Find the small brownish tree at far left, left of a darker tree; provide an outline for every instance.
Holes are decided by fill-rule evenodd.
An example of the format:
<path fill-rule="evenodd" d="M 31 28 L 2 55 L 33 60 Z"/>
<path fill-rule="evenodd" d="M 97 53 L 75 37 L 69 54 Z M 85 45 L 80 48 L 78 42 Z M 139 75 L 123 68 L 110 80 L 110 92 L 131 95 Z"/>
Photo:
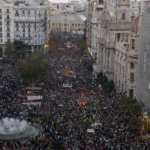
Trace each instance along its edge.
<path fill-rule="evenodd" d="M 6 47 L 5 47 L 5 56 L 12 56 L 13 55 L 13 50 L 14 50 L 14 44 L 8 40 L 6 43 L 5 43 Z"/>

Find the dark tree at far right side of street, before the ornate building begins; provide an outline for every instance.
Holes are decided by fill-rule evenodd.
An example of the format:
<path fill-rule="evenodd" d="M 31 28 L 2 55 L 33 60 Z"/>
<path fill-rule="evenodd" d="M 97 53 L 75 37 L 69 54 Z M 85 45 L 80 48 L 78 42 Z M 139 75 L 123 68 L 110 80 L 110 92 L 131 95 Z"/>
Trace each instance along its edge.
<path fill-rule="evenodd" d="M 83 55 L 86 50 L 87 50 L 87 46 L 86 46 L 86 42 L 83 38 L 77 38 L 75 41 L 76 45 L 79 47 L 80 49 L 80 54 Z"/>

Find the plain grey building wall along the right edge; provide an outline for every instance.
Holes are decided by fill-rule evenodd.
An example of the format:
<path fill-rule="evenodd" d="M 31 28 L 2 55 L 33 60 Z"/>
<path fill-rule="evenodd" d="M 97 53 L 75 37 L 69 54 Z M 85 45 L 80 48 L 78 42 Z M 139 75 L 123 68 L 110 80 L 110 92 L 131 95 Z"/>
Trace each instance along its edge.
<path fill-rule="evenodd" d="M 141 42 L 138 54 L 137 98 L 145 105 L 147 111 L 150 111 L 150 1 L 142 1 L 139 25 Z"/>

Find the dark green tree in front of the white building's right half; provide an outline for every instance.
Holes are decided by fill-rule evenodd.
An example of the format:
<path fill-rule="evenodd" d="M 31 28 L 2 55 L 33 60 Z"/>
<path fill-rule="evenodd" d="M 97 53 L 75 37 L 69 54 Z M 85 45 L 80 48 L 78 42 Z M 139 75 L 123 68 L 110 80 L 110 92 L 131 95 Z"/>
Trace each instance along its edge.
<path fill-rule="evenodd" d="M 23 41 L 14 41 L 14 56 L 17 59 L 23 59 L 26 56 L 28 46 Z"/>

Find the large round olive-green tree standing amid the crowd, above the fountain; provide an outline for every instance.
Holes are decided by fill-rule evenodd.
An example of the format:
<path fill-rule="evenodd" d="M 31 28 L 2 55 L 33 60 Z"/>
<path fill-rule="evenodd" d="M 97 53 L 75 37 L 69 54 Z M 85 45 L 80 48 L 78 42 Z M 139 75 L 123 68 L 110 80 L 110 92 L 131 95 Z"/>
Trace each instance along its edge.
<path fill-rule="evenodd" d="M 24 60 L 16 62 L 20 75 L 25 82 L 36 82 L 43 79 L 49 65 L 41 53 L 32 53 Z"/>

